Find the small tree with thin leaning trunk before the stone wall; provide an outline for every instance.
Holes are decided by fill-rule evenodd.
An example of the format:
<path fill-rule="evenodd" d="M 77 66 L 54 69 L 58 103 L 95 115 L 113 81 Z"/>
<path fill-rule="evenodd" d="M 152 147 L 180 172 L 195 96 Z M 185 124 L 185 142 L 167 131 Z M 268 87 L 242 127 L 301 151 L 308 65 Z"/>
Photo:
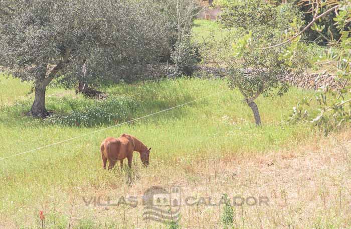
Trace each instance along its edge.
<path fill-rule="evenodd" d="M 251 108 L 256 126 L 261 126 L 261 117 L 255 99 L 264 96 L 282 95 L 288 85 L 279 81 L 279 75 L 287 71 L 284 61 L 279 60 L 278 49 L 262 49 L 264 41 L 254 40 L 252 34 L 244 36 L 233 45 L 234 57 L 230 66 L 230 85 L 238 88 Z"/>

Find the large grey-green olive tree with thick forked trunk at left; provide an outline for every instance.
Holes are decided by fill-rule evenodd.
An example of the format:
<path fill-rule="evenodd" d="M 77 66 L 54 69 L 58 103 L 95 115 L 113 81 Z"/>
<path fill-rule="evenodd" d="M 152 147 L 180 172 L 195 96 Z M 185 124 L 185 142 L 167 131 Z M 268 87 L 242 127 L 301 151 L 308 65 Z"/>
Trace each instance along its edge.
<path fill-rule="evenodd" d="M 0 7 L 0 65 L 35 81 L 35 117 L 49 115 L 45 93 L 54 78 L 121 77 L 170 56 L 177 40 L 173 1 L 3 0 Z"/>

